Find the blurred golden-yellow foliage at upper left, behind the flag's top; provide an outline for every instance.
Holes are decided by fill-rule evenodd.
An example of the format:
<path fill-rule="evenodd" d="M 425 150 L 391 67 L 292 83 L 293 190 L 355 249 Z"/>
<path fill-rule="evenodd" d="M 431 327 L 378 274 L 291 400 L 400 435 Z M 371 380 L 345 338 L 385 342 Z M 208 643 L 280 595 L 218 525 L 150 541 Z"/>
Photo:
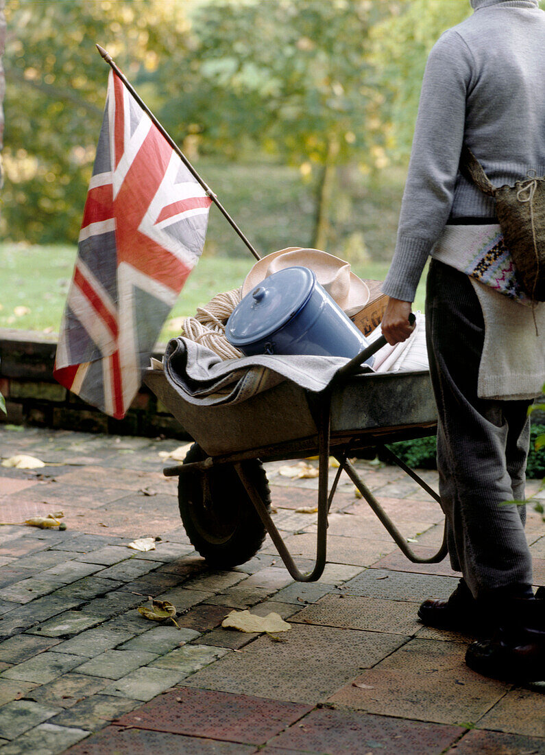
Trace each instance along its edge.
<path fill-rule="evenodd" d="M 2 236 L 29 242 L 78 238 L 108 66 L 129 76 L 157 69 L 189 43 L 183 4 L 168 0 L 11 0 L 6 8 L 6 184 Z"/>

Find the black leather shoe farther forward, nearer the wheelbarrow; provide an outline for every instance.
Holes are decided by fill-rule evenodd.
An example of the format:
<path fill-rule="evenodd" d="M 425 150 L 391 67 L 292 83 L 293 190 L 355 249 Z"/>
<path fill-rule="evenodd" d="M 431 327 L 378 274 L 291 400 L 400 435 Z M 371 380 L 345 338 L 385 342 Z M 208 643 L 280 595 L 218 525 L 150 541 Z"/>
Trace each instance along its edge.
<path fill-rule="evenodd" d="M 469 633 L 478 633 L 482 624 L 479 606 L 463 579 L 448 599 L 424 600 L 418 618 L 427 627 Z"/>

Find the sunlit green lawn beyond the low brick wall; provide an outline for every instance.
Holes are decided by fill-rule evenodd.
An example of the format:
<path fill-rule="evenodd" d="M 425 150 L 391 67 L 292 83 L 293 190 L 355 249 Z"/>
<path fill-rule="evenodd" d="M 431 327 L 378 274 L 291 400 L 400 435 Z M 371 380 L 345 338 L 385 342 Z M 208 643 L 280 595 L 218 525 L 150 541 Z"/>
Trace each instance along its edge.
<path fill-rule="evenodd" d="M 75 255 L 75 246 L 0 244 L 0 328 L 57 333 Z M 253 261 L 250 252 L 245 258 L 207 256 L 205 247 L 203 257 L 189 276 L 161 331 L 159 341 L 167 341 L 179 333 L 179 324 L 173 320 L 194 314 L 197 307 L 206 304 L 214 294 L 241 285 Z M 383 280 L 387 268 L 387 263 L 369 262 L 358 265 L 357 273 L 362 278 Z M 424 279 L 415 301 L 415 309 L 423 308 Z"/>

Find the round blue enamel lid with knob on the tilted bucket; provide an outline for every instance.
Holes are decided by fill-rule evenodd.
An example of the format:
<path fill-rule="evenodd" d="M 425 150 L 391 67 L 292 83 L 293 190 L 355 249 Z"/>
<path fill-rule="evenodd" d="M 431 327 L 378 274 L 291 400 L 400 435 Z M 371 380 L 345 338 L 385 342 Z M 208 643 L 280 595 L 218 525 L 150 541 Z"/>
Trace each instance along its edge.
<path fill-rule="evenodd" d="M 234 308 L 225 325 L 227 340 L 247 346 L 280 330 L 305 306 L 314 285 L 308 267 L 286 267 L 268 276 Z"/>

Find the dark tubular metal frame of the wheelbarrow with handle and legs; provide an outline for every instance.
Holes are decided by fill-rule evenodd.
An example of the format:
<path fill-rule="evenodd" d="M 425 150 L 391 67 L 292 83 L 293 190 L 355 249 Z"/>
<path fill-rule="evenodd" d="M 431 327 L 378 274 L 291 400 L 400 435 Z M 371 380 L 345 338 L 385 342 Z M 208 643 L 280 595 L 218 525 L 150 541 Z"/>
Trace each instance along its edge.
<path fill-rule="evenodd" d="M 235 451 L 234 453 L 224 453 L 207 455 L 203 461 L 196 461 L 191 464 L 177 464 L 173 467 L 166 467 L 164 469 L 165 476 L 183 476 L 191 473 L 206 473 L 213 467 L 220 464 L 232 464 L 237 471 L 237 475 L 240 478 L 246 493 L 252 501 L 256 512 L 259 514 L 260 519 L 265 526 L 266 531 L 271 536 L 271 540 L 274 542 L 275 547 L 280 554 L 281 559 L 286 565 L 286 569 L 293 579 L 300 582 L 316 581 L 323 573 L 323 569 L 326 565 L 326 553 L 327 553 L 327 527 L 328 527 L 328 515 L 331 507 L 335 491 L 338 486 L 341 473 L 344 471 L 348 474 L 348 477 L 354 482 L 354 485 L 361 493 L 362 497 L 367 501 L 371 510 L 378 517 L 384 528 L 393 538 L 393 541 L 397 544 L 404 555 L 413 563 L 437 563 L 445 558 L 447 553 L 446 545 L 446 531 L 443 533 L 442 545 L 439 550 L 430 556 L 429 558 L 421 558 L 417 556 L 414 551 L 409 547 L 406 538 L 403 537 L 397 526 L 392 522 L 390 517 L 384 511 L 379 501 L 375 498 L 363 479 L 357 473 L 354 465 L 348 459 L 348 455 L 361 451 L 366 448 L 381 448 L 381 452 L 387 456 L 390 461 L 397 464 L 406 474 L 408 474 L 418 485 L 423 488 L 428 495 L 434 498 L 439 504 L 441 499 L 439 495 L 415 473 L 410 467 L 403 463 L 390 449 L 385 447 L 386 443 L 395 442 L 402 439 L 413 439 L 418 437 L 424 437 L 434 434 L 436 428 L 436 421 L 429 421 L 424 423 L 418 423 L 413 425 L 403 425 L 400 427 L 375 427 L 373 430 L 363 430 L 362 432 L 351 431 L 348 433 L 332 433 L 331 418 L 332 418 L 332 399 L 335 395 L 335 387 L 346 381 L 348 377 L 354 375 L 357 371 L 360 371 L 361 362 L 365 362 L 369 359 L 369 356 L 381 345 L 384 344 L 383 339 L 379 339 L 372 347 L 369 347 L 363 353 L 355 357 L 344 365 L 341 370 L 335 375 L 332 384 L 327 387 L 326 390 L 321 393 L 310 393 L 305 391 L 305 397 L 308 402 L 308 407 L 311 410 L 311 414 L 314 418 L 314 422 L 317 427 L 317 437 L 310 436 L 303 439 L 289 440 L 286 442 L 278 442 L 271 445 L 264 445 L 260 448 L 251 448 L 248 450 Z M 198 441 L 197 441 L 198 442 Z M 246 471 L 244 470 L 243 462 L 250 459 L 259 459 L 261 461 L 278 461 L 291 458 L 302 458 L 305 456 L 315 455 L 318 453 L 319 467 L 318 467 L 318 504 L 317 504 L 317 550 L 314 567 L 311 572 L 302 573 L 289 553 L 286 544 L 283 541 L 282 535 L 278 532 L 276 525 L 274 524 L 271 514 L 268 512 L 268 508 L 262 499 L 262 495 L 256 488 L 256 485 L 250 479 Z M 329 456 L 332 455 L 338 461 L 338 470 L 335 479 L 332 483 L 331 490 L 329 490 Z"/>

